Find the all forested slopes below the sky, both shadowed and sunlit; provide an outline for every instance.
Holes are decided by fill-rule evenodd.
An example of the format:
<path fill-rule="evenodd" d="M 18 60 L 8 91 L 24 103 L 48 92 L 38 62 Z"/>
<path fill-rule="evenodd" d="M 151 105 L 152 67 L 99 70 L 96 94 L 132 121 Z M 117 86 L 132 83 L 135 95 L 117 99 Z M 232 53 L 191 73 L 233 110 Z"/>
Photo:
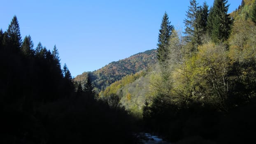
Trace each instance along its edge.
<path fill-rule="evenodd" d="M 184 31 L 165 12 L 157 49 L 72 78 L 50 51 L 21 39 L 14 16 L 0 30 L 4 144 L 140 144 L 140 132 L 175 144 L 254 142 L 256 0 L 189 1 Z"/>

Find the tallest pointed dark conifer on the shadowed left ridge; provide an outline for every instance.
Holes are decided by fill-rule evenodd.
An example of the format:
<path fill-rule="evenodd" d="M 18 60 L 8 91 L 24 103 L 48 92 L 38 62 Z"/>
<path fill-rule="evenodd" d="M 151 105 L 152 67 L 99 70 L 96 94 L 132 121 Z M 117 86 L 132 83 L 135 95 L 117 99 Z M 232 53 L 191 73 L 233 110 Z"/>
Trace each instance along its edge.
<path fill-rule="evenodd" d="M 10 48 L 14 51 L 17 51 L 21 47 L 21 33 L 19 28 L 19 23 L 17 17 L 14 15 L 9 27 L 7 29 L 7 36 L 9 38 Z"/>

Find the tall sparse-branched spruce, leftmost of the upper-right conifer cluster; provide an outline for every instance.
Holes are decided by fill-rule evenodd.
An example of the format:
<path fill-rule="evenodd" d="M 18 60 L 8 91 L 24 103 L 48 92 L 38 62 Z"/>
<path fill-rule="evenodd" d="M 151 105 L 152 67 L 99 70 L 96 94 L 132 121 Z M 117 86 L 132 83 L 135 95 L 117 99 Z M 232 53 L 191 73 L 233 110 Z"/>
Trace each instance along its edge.
<path fill-rule="evenodd" d="M 188 42 L 191 42 L 194 48 L 191 51 L 195 51 L 198 45 L 201 44 L 200 38 L 200 28 L 198 23 L 200 7 L 196 0 L 190 0 L 189 10 L 186 12 L 187 19 L 184 20 L 185 23 L 185 34 Z"/>

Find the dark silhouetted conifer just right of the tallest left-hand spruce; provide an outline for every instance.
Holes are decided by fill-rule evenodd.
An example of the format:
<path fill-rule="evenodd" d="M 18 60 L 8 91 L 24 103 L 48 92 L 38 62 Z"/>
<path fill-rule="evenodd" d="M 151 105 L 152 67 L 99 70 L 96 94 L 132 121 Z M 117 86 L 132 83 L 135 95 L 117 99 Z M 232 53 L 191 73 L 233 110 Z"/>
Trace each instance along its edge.
<path fill-rule="evenodd" d="M 21 45 L 21 51 L 25 56 L 33 56 L 34 55 L 34 43 L 32 42 L 32 39 L 30 35 L 25 36 L 22 45 Z"/>

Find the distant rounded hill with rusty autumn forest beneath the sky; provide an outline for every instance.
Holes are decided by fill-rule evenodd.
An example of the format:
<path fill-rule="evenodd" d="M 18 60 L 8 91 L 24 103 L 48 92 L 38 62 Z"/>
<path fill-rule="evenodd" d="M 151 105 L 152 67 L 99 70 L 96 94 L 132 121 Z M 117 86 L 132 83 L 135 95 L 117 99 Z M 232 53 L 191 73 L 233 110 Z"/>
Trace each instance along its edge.
<path fill-rule="evenodd" d="M 120 80 L 122 77 L 147 69 L 148 66 L 154 65 L 156 62 L 156 49 L 151 49 L 142 53 L 137 53 L 129 58 L 109 63 L 99 70 L 83 72 L 82 74 L 77 75 L 77 77 L 74 78 L 74 81 L 80 81 L 83 84 L 87 79 L 88 73 L 90 73 L 96 91 L 100 92 L 110 84 Z"/>

